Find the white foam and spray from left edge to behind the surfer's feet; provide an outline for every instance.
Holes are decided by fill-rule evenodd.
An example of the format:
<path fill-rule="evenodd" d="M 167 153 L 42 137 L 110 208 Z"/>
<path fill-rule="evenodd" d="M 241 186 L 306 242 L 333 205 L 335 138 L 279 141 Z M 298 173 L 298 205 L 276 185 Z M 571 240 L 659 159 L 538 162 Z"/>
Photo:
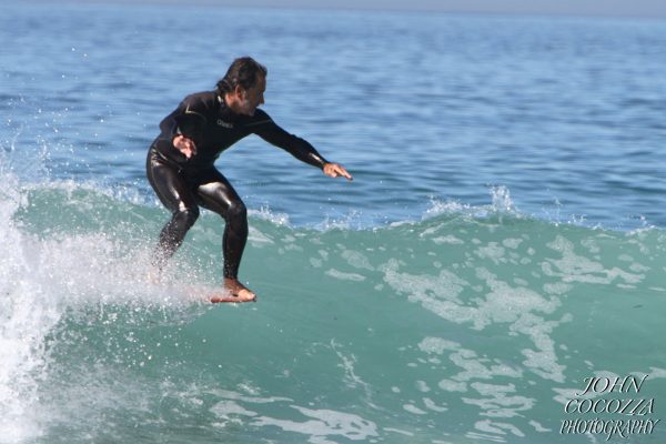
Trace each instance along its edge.
<path fill-rule="evenodd" d="M 26 189 L 0 175 L 0 441 L 39 436 L 40 381 L 49 371 L 47 337 L 65 313 L 87 306 L 188 306 L 196 296 L 148 282 L 148 251 L 131 252 L 103 233 L 40 239 L 17 226 Z M 42 234 L 43 236 L 43 234 Z"/>

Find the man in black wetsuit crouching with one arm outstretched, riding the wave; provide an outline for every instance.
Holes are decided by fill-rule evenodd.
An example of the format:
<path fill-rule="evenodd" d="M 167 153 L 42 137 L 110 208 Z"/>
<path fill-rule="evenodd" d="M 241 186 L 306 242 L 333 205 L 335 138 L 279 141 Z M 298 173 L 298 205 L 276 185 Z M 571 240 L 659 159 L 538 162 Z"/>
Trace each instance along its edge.
<path fill-rule="evenodd" d="M 203 206 L 224 218 L 222 238 L 224 289 L 230 294 L 216 302 L 254 301 L 255 294 L 239 282 L 248 212 L 231 183 L 215 169 L 220 153 L 249 134 L 282 148 L 296 159 L 322 169 L 332 178 L 351 174 L 326 161 L 310 143 L 287 133 L 264 111 L 265 67 L 249 57 L 233 61 L 214 91 L 188 95 L 160 123 L 160 135 L 148 153 L 148 180 L 171 213 L 160 233 L 153 264 L 162 269 L 181 245 Z"/>

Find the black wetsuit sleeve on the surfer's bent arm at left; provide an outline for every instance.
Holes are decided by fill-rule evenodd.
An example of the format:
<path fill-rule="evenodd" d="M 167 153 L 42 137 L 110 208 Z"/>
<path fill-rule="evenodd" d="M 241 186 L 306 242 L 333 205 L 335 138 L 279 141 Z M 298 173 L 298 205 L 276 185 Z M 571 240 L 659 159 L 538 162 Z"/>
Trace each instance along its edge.
<path fill-rule="evenodd" d="M 202 129 L 209 119 L 208 114 L 209 107 L 205 101 L 198 95 L 189 95 L 160 122 L 162 137 L 173 140 L 182 134 L 199 143 Z"/>

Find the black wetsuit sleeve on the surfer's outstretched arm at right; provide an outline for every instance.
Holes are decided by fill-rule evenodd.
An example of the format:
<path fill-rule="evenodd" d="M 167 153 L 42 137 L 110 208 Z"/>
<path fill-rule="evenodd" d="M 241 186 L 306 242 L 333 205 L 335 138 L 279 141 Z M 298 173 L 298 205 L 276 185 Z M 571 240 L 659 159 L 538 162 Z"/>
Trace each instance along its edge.
<path fill-rule="evenodd" d="M 329 163 L 310 142 L 284 131 L 264 111 L 256 110 L 254 118 L 249 129 L 266 142 L 282 148 L 294 158 L 313 167 L 323 169 L 324 164 Z"/>

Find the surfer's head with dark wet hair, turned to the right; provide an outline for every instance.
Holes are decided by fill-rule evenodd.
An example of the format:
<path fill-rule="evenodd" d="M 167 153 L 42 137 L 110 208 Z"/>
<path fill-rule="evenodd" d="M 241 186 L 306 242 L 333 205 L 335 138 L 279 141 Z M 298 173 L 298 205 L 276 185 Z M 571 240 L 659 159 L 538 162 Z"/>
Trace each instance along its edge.
<path fill-rule="evenodd" d="M 235 59 L 218 82 L 218 91 L 226 104 L 239 114 L 253 115 L 264 102 L 269 70 L 251 57 Z"/>

